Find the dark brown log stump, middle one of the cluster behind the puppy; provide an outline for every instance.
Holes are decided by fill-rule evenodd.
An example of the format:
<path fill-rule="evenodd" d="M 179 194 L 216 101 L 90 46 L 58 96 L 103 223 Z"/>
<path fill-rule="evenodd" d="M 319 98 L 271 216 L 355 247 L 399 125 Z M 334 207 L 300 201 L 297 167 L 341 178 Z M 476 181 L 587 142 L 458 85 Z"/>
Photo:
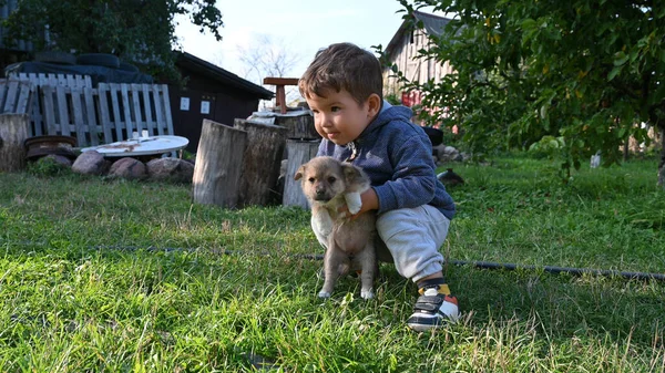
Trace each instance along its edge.
<path fill-rule="evenodd" d="M 247 132 L 238 206 L 266 206 L 277 195 L 279 164 L 286 146 L 286 128 L 235 120 L 234 127 Z"/>

